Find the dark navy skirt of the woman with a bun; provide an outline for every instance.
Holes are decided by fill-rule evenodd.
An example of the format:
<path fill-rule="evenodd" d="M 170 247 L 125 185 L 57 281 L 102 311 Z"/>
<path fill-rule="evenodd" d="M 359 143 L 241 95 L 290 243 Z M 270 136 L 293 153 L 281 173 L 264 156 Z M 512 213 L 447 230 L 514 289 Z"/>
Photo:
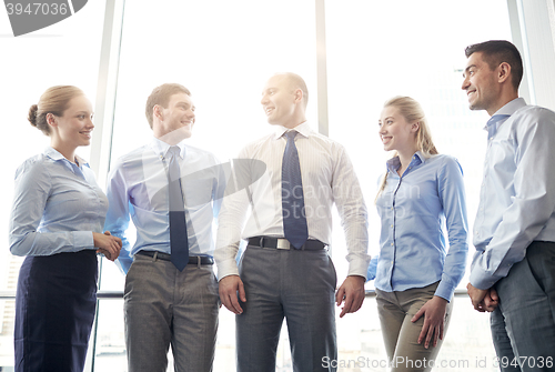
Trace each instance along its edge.
<path fill-rule="evenodd" d="M 16 371 L 83 370 L 97 279 L 93 250 L 24 260 L 16 295 Z"/>

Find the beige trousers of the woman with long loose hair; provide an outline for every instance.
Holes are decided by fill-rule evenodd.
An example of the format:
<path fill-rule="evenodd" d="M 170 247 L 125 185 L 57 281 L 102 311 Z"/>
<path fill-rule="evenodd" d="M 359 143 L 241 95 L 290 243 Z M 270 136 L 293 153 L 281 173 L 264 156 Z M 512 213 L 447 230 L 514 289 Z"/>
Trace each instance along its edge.
<path fill-rule="evenodd" d="M 392 372 L 431 371 L 443 341 L 437 339 L 437 346 L 424 348 L 418 344 L 418 335 L 424 324 L 424 315 L 416 322 L 411 319 L 434 296 L 437 284 L 413 288 L 403 292 L 384 292 L 376 289 L 377 313 L 382 325 L 385 351 Z M 453 299 L 447 304 L 443 338 L 447 333 Z"/>

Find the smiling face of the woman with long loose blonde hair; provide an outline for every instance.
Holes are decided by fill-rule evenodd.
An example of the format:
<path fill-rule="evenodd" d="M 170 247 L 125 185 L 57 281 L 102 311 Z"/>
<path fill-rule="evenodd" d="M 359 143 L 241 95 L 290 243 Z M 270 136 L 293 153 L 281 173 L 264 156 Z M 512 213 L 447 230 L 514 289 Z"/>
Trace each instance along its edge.
<path fill-rule="evenodd" d="M 416 152 L 418 123 L 410 123 L 394 105 L 385 107 L 379 120 L 379 134 L 385 151 L 396 150 L 412 155 Z"/>

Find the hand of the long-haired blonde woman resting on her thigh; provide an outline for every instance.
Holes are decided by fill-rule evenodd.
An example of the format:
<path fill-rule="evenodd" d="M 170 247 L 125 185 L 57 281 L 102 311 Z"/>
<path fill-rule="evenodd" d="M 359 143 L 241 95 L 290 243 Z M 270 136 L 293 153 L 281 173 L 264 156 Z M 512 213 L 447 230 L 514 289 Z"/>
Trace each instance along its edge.
<path fill-rule="evenodd" d="M 443 332 L 445 330 L 445 312 L 447 310 L 447 300 L 434 295 L 432 300 L 424 303 L 416 314 L 411 319 L 411 322 L 417 321 L 424 315 L 424 324 L 418 335 L 418 343 L 424 341 L 424 348 L 430 346 L 430 341 L 433 340 L 434 348 L 437 346 L 437 339 L 443 340 Z"/>

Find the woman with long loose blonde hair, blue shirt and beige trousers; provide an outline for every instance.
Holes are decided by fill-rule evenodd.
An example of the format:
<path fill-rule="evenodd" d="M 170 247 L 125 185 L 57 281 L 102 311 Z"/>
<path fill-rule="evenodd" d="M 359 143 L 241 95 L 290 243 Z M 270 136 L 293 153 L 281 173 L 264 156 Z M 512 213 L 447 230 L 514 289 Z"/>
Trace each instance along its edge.
<path fill-rule="evenodd" d="M 392 371 L 431 371 L 466 265 L 463 172 L 454 158 L 437 153 L 412 98 L 387 101 L 379 124 L 384 150 L 395 151 L 376 197 L 382 230 L 373 270 L 382 333 Z"/>

